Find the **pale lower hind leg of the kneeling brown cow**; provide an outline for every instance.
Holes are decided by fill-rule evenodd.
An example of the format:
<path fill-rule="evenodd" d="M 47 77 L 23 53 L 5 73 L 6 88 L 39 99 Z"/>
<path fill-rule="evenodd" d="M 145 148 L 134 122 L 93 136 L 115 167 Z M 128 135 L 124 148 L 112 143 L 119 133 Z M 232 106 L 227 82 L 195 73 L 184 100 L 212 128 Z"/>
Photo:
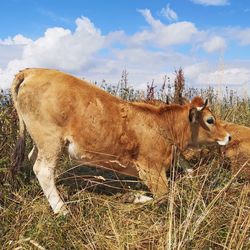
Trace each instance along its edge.
<path fill-rule="evenodd" d="M 56 160 L 57 153 L 47 154 L 38 150 L 38 156 L 33 169 L 54 213 L 66 214 L 66 206 L 55 185 L 54 170 Z"/>

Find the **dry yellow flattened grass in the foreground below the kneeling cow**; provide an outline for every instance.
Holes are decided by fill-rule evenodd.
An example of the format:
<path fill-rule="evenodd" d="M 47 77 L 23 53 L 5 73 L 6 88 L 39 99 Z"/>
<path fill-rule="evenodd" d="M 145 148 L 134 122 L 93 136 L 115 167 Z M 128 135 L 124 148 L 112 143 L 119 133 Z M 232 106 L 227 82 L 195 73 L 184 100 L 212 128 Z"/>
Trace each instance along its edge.
<path fill-rule="evenodd" d="M 249 249 L 250 189 L 213 166 L 170 182 L 166 203 L 133 205 L 119 196 L 75 190 L 70 215 L 52 214 L 34 180 L 5 196 L 4 249 Z M 213 179 L 213 175 L 217 179 Z M 221 178 L 221 179 L 220 179 Z M 62 189 L 62 186 L 60 186 Z M 67 187 L 64 187 L 64 193 Z M 34 244 L 35 243 L 35 244 Z"/>

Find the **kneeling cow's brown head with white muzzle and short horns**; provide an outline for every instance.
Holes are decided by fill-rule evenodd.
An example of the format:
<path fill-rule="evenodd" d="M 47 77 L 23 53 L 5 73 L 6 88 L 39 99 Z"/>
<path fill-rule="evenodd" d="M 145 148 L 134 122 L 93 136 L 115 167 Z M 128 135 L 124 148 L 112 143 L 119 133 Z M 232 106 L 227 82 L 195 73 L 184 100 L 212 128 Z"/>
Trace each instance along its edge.
<path fill-rule="evenodd" d="M 231 136 L 222 123 L 215 118 L 207 104 L 208 101 L 204 102 L 200 97 L 195 97 L 189 104 L 192 143 L 207 144 L 217 142 L 219 145 L 226 145 L 231 140 Z"/>

